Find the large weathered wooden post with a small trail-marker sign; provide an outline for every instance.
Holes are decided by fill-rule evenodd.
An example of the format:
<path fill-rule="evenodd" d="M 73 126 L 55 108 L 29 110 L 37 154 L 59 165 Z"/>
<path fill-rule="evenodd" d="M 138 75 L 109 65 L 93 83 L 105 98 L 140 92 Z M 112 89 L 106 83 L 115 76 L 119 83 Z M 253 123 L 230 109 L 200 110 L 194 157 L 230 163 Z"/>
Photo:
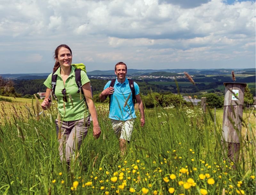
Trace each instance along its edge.
<path fill-rule="evenodd" d="M 242 131 L 242 122 L 240 118 L 243 117 L 244 89 L 246 83 L 223 84 L 225 85 L 225 98 L 221 141 L 224 150 L 223 152 L 228 152 L 228 158 L 237 163 L 239 159 Z M 226 149 L 228 151 L 226 151 Z"/>

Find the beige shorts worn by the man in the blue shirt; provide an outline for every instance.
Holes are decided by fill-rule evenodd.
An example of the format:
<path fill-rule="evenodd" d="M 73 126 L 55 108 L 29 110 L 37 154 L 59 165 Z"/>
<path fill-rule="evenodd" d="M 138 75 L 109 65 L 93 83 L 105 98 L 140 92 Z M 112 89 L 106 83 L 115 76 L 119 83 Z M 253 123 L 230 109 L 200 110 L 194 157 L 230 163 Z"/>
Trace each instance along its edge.
<path fill-rule="evenodd" d="M 133 131 L 134 120 L 135 119 L 122 121 L 111 119 L 112 127 L 118 139 L 130 141 Z"/>

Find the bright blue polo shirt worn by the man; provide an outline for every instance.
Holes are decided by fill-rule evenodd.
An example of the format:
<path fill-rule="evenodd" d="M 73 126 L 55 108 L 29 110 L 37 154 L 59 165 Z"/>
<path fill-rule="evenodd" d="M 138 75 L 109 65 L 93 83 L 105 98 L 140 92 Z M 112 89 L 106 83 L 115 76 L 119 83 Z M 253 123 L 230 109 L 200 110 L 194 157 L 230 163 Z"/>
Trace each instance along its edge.
<path fill-rule="evenodd" d="M 111 81 L 105 85 L 104 90 L 110 86 Z M 139 85 L 134 82 L 135 96 L 140 93 Z M 115 120 L 129 120 L 136 118 L 134 112 L 134 105 L 132 103 L 132 91 L 129 86 L 129 81 L 126 78 L 124 83 L 119 83 L 116 78 L 114 84 L 114 93 L 111 94 L 109 118 Z M 125 101 L 128 96 L 131 96 L 127 101 L 127 105 L 124 107 Z"/>

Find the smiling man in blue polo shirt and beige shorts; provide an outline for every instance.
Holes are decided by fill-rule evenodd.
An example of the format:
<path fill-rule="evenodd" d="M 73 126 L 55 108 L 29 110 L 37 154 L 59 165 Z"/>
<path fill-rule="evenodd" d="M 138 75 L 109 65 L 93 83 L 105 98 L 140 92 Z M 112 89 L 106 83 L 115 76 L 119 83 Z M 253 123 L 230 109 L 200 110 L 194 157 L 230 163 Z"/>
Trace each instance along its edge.
<path fill-rule="evenodd" d="M 100 100 L 104 101 L 108 96 L 109 118 L 113 130 L 119 139 L 122 154 L 126 150 L 126 141 L 129 143 L 136 118 L 134 111 L 135 100 L 139 105 L 141 114 L 140 125 L 145 124 L 144 107 L 140 98 L 140 89 L 137 83 L 127 79 L 127 66 L 124 62 L 118 62 L 115 66 L 116 79 L 108 81 L 104 90 L 100 93 Z"/>

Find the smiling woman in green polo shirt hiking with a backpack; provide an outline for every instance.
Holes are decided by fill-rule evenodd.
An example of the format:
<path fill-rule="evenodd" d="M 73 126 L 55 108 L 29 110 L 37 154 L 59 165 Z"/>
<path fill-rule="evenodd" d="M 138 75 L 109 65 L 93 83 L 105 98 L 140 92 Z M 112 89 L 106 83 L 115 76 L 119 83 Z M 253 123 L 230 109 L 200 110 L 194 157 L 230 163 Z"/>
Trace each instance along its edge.
<path fill-rule="evenodd" d="M 60 45 L 55 49 L 55 65 L 51 73 L 44 81 L 46 94 L 42 109 L 47 110 L 51 106 L 52 74 L 57 75 L 54 95 L 58 101 L 60 119 L 56 119 L 56 132 L 59 139 L 59 153 L 61 161 L 69 165 L 76 150 L 79 150 L 83 138 L 85 138 L 90 126 L 90 113 L 93 122 L 93 136 L 99 138 L 101 130 L 97 119 L 95 105 L 92 100 L 90 80 L 84 71 L 81 71 L 81 85 L 84 98 L 78 93 L 75 68 L 71 66 L 72 51 L 67 45 Z M 88 108 L 87 108 L 88 107 Z M 88 110 L 89 109 L 89 110 Z M 89 112 L 90 111 L 90 112 Z M 59 124 L 60 123 L 60 124 Z"/>

